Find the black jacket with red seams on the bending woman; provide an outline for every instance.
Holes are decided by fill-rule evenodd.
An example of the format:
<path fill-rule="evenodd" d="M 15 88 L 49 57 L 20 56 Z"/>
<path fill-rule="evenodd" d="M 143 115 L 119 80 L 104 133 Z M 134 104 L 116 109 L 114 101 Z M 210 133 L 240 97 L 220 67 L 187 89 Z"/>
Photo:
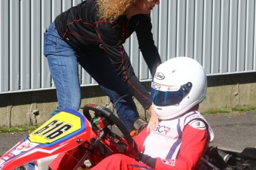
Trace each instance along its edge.
<path fill-rule="evenodd" d="M 143 58 L 154 75 L 161 59 L 154 45 L 150 16 L 138 14 L 130 21 L 125 16 L 120 16 L 117 21 L 105 21 L 97 14 L 96 1 L 86 0 L 57 16 L 55 24 L 59 35 L 77 52 L 105 50 L 114 69 L 144 109 L 151 106 L 150 95 L 134 74 L 122 46 L 135 31 Z"/>

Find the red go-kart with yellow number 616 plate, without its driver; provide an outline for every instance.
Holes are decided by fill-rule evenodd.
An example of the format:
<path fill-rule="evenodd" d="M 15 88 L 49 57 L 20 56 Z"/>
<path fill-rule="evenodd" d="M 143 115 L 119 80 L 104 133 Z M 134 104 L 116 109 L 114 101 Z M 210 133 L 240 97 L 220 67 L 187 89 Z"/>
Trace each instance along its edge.
<path fill-rule="evenodd" d="M 85 167 L 85 160 L 95 166 L 111 154 L 134 157 L 136 143 L 111 110 L 86 104 L 83 114 L 63 109 L 42 126 L 24 137 L 0 157 L 0 169 L 10 170 L 30 161 L 36 169 L 48 169 L 49 163 L 62 152 L 78 148 L 82 157 L 73 169 Z M 256 149 L 232 152 L 209 146 L 198 163 L 199 169 L 256 169 Z M 20 168 L 19 168 L 20 169 Z"/>

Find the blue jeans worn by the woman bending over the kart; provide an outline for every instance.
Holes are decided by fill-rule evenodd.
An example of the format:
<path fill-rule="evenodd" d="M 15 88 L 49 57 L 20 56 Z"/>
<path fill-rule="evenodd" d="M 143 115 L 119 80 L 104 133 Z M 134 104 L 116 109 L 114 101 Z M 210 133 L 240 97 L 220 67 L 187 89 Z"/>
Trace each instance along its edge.
<path fill-rule="evenodd" d="M 50 24 L 47 33 L 45 33 L 44 46 L 44 53 L 58 98 L 58 106 L 50 114 L 50 118 L 56 115 L 60 109 L 79 109 L 81 89 L 78 64 L 80 64 L 99 84 L 112 103 L 116 103 L 119 98 L 126 96 L 116 103 L 116 112 L 128 132 L 134 129 L 134 121 L 139 118 L 139 114 L 131 91 L 116 73 L 103 50 L 99 52 L 76 52 L 59 36 L 54 22 Z"/>

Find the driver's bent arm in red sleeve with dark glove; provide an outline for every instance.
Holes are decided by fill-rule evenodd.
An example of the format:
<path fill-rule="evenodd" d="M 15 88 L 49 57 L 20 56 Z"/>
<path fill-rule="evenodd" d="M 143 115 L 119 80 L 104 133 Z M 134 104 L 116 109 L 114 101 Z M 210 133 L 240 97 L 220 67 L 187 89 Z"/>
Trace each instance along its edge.
<path fill-rule="evenodd" d="M 206 129 L 196 129 L 188 124 L 183 130 L 182 145 L 177 159 L 153 158 L 140 154 L 137 160 L 144 162 L 153 169 L 195 169 L 208 143 Z"/>

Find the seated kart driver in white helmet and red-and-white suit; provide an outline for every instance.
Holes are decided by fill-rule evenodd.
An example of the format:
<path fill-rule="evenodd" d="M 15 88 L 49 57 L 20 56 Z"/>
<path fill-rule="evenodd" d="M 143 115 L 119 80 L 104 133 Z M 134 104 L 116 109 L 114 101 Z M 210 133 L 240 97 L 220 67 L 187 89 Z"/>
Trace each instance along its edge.
<path fill-rule="evenodd" d="M 197 169 L 210 140 L 211 127 L 198 112 L 206 96 L 206 73 L 194 59 L 172 58 L 157 67 L 151 86 L 160 120 L 154 132 L 134 137 L 140 154 L 106 157 L 92 169 Z"/>

